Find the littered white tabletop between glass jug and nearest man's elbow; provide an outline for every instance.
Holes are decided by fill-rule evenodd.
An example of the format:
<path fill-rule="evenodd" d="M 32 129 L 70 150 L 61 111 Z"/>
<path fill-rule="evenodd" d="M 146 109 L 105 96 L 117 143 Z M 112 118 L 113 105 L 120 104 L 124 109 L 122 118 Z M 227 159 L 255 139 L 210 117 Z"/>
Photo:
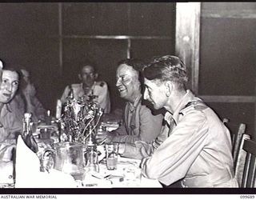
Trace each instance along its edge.
<path fill-rule="evenodd" d="M 78 187 L 96 188 L 126 188 L 126 187 L 154 187 L 162 185 L 155 179 L 149 179 L 142 175 L 139 168 L 140 160 L 118 156 L 117 169 L 107 170 L 106 160 L 99 162 L 99 171 L 86 171 L 85 178 L 78 182 Z"/>

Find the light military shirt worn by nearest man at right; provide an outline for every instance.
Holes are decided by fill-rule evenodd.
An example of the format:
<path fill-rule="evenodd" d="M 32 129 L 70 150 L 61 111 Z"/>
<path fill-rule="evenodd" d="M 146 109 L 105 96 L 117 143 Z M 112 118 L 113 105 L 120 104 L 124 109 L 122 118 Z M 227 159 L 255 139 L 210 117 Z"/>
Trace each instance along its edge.
<path fill-rule="evenodd" d="M 217 114 L 187 91 L 172 114 L 168 138 L 142 160 L 142 174 L 169 186 L 237 187 L 230 132 Z"/>

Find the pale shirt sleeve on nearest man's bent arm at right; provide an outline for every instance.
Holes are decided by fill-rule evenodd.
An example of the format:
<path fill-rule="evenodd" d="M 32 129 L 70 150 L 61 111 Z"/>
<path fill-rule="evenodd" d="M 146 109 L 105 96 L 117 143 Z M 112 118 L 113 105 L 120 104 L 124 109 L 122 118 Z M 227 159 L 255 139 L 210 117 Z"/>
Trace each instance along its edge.
<path fill-rule="evenodd" d="M 207 131 L 202 112 L 186 114 L 154 154 L 142 160 L 142 174 L 166 185 L 183 178 L 205 146 Z"/>

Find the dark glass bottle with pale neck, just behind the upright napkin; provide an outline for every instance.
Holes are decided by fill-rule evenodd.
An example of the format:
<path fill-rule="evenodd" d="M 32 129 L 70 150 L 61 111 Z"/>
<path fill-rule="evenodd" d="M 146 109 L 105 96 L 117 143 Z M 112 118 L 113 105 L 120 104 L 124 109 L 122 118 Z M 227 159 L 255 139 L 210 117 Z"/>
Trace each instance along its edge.
<path fill-rule="evenodd" d="M 26 143 L 26 146 L 29 146 L 34 152 L 38 152 L 38 144 L 34 139 L 32 134 L 32 114 L 25 113 L 23 118 L 23 129 L 22 129 L 22 138 Z"/>

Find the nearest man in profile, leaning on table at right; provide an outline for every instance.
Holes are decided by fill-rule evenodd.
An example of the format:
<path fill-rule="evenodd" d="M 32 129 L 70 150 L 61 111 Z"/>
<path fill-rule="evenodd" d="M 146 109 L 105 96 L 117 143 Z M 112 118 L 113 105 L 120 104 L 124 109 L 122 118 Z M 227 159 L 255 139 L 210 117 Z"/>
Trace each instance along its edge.
<path fill-rule="evenodd" d="M 143 70 L 144 98 L 166 109 L 167 138 L 142 159 L 142 174 L 164 186 L 237 187 L 230 132 L 217 114 L 186 90 L 186 66 L 176 56 L 155 58 Z"/>

